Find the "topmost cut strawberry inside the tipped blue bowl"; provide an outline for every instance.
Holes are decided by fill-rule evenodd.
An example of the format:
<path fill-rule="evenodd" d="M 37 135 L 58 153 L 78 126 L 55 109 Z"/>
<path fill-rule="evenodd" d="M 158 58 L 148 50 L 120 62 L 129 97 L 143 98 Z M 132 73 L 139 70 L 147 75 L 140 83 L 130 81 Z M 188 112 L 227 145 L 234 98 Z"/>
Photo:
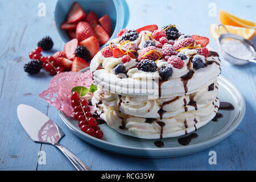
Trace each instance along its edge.
<path fill-rule="evenodd" d="M 85 17 L 86 13 L 84 9 L 82 9 L 78 2 L 75 2 L 68 12 L 67 23 L 79 22 L 80 20 L 85 19 Z"/>

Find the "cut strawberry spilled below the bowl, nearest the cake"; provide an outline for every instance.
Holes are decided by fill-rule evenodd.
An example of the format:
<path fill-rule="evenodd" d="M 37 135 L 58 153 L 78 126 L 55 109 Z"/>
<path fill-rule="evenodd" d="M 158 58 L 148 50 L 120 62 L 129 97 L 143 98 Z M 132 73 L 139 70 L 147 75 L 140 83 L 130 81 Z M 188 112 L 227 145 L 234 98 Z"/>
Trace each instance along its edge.
<path fill-rule="evenodd" d="M 86 49 L 90 52 L 90 59 L 92 59 L 100 50 L 100 45 L 95 36 L 90 36 L 89 38 L 80 42 L 79 45 L 86 47 Z"/>

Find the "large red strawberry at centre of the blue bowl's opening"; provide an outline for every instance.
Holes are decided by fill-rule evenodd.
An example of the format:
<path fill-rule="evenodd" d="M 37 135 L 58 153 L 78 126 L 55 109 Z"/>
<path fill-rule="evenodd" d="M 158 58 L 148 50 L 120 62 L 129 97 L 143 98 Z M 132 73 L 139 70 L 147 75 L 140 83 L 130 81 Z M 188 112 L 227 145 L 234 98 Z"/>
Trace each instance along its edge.
<path fill-rule="evenodd" d="M 88 22 L 79 22 L 76 27 L 76 38 L 81 42 L 90 36 L 96 36 L 96 32 Z"/>

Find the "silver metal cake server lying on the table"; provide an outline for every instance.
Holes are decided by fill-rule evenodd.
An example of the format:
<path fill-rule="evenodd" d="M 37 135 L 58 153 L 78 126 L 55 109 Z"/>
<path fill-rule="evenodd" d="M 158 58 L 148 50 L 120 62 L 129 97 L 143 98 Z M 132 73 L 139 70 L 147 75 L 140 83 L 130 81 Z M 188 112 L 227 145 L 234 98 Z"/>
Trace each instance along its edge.
<path fill-rule="evenodd" d="M 65 134 L 47 115 L 24 104 L 18 106 L 17 114 L 22 127 L 34 142 L 52 144 L 63 152 L 79 171 L 91 170 L 75 154 L 58 143 Z"/>

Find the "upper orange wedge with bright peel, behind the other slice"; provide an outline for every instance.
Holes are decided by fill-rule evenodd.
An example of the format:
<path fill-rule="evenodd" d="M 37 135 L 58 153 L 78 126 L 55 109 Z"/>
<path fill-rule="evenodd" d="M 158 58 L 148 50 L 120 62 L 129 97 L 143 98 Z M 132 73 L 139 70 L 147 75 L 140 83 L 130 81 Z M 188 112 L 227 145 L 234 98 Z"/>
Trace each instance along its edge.
<path fill-rule="evenodd" d="M 236 26 L 236 27 L 245 27 L 245 28 L 256 28 L 254 22 L 249 20 L 238 18 L 226 11 L 220 10 L 220 22 L 221 24 Z"/>

